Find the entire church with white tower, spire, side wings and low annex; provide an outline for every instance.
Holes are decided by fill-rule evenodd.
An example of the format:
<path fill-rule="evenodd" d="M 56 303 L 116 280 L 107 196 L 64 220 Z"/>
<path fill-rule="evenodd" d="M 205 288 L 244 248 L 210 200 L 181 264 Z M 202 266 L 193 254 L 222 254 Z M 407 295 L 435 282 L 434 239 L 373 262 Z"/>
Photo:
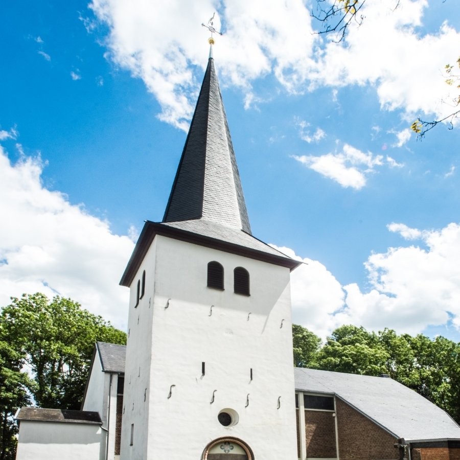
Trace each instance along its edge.
<path fill-rule="evenodd" d="M 387 378 L 293 368 L 290 272 L 252 236 L 211 53 L 162 222 L 120 284 L 81 411 L 20 408 L 17 460 L 459 460 L 460 427 Z"/>

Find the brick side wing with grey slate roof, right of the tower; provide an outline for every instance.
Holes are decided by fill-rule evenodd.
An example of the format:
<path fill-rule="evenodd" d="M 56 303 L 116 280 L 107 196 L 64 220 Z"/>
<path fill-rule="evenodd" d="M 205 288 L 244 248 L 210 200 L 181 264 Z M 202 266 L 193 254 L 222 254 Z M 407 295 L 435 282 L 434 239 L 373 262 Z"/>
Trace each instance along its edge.
<path fill-rule="evenodd" d="M 298 458 L 457 460 L 460 427 L 388 376 L 294 369 Z M 300 436 L 305 433 L 305 438 Z"/>

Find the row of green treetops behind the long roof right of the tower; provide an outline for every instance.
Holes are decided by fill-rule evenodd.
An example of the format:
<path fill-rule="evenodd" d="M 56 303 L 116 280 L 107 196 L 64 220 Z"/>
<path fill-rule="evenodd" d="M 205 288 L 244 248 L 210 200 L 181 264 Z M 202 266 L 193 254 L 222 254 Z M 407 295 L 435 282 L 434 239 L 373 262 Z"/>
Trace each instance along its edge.
<path fill-rule="evenodd" d="M 319 337 L 298 325 L 292 331 L 294 365 L 350 374 L 388 374 L 460 422 L 460 343 L 441 336 L 432 340 L 423 334 L 398 335 L 386 328 L 375 333 L 346 325 L 313 350 L 310 344 L 319 344 Z"/>

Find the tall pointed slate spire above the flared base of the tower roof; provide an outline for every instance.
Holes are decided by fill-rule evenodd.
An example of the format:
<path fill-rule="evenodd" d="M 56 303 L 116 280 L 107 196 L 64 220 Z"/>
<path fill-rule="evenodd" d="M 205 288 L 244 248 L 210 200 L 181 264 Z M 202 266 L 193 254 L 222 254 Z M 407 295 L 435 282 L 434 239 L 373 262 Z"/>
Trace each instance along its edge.
<path fill-rule="evenodd" d="M 196 219 L 251 234 L 212 53 L 163 222 Z"/>

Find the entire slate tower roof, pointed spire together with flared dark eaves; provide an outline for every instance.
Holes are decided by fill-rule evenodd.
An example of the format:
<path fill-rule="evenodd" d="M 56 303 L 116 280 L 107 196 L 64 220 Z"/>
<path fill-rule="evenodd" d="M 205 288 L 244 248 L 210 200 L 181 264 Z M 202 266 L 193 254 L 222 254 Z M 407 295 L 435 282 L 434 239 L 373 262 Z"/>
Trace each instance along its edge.
<path fill-rule="evenodd" d="M 291 270 L 301 264 L 251 234 L 212 56 L 204 74 L 163 221 L 146 221 L 121 285 L 130 286 L 153 238 L 158 234 L 216 247 Z"/>

